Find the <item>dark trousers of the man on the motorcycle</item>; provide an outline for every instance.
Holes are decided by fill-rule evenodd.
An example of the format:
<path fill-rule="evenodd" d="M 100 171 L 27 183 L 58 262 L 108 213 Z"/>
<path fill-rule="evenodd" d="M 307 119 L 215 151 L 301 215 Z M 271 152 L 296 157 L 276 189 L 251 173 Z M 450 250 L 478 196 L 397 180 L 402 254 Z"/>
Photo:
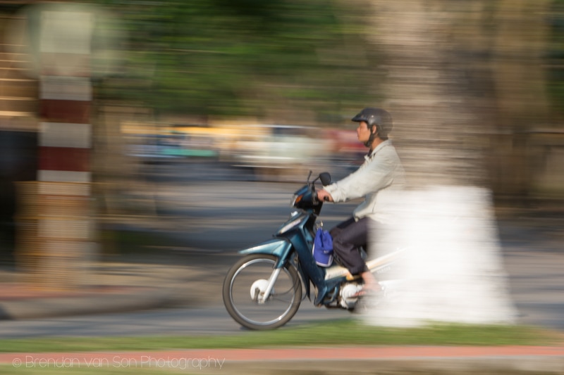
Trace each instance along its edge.
<path fill-rule="evenodd" d="M 351 217 L 329 231 L 333 237 L 333 256 L 351 274 L 360 274 L 368 270 L 366 262 L 360 255 L 359 247 L 364 246 L 366 249 L 371 221 L 372 219 L 368 217 L 358 221 Z"/>

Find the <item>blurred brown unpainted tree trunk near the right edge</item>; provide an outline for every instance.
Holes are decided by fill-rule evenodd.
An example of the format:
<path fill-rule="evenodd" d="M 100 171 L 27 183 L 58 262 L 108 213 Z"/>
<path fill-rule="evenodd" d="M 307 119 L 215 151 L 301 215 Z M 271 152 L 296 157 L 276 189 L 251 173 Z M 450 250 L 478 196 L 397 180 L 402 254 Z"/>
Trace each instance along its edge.
<path fill-rule="evenodd" d="M 489 68 L 495 83 L 489 133 L 496 135 L 490 155 L 498 160 L 489 172 L 498 196 L 513 203 L 515 198 L 527 201 L 537 193 L 540 165 L 535 139 L 551 127 L 546 80 L 550 6 L 551 0 L 498 1 L 496 24 L 488 34 Z"/>

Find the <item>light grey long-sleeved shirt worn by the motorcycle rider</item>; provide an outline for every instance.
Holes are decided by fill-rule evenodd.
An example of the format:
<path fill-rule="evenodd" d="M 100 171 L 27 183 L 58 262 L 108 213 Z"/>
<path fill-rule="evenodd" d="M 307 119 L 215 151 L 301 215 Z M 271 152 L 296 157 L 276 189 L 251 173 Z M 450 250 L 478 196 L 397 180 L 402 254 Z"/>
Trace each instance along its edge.
<path fill-rule="evenodd" d="M 389 206 L 405 187 L 405 171 L 396 148 L 388 139 L 364 158 L 358 170 L 324 189 L 331 193 L 335 203 L 364 196 L 364 201 L 353 211 L 356 220 L 370 217 L 377 222 L 391 222 L 393 212 Z"/>

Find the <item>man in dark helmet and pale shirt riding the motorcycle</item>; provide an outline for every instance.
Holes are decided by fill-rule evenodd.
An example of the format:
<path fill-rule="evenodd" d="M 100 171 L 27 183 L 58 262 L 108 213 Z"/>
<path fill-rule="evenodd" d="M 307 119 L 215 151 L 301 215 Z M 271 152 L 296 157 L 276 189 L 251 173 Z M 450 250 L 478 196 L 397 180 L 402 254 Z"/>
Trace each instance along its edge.
<path fill-rule="evenodd" d="M 360 274 L 362 277 L 364 287 L 359 293 L 362 295 L 379 292 L 381 286 L 369 272 L 359 248 L 367 245 L 372 229 L 391 219 L 391 212 L 386 210 L 388 193 L 403 189 L 405 171 L 396 148 L 388 139 L 393 128 L 390 113 L 381 108 L 364 108 L 352 120 L 358 122 L 358 140 L 369 148 L 369 153 L 355 172 L 325 186 L 318 191 L 317 197 L 322 201 L 341 203 L 364 196 L 364 201 L 353 210 L 353 217 L 330 231 L 336 260 L 351 276 Z"/>

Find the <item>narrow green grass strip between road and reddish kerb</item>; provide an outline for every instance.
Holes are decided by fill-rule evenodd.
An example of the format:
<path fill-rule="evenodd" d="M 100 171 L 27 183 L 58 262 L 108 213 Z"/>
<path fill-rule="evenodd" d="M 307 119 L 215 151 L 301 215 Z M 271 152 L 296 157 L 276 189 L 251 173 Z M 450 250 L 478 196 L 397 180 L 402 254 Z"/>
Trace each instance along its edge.
<path fill-rule="evenodd" d="M 553 345 L 558 333 L 529 326 L 433 324 L 393 329 L 336 320 L 228 336 L 49 337 L 0 340 L 0 352 L 85 352 L 314 345 Z"/>

